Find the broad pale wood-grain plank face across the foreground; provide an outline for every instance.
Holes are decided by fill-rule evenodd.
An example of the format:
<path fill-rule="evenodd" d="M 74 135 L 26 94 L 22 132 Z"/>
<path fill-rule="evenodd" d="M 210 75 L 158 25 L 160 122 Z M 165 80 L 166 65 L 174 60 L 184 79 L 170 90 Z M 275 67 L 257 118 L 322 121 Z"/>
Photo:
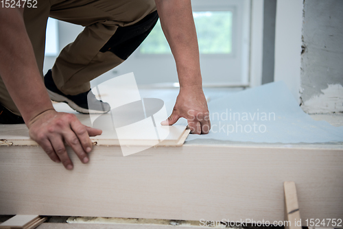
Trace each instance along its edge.
<path fill-rule="evenodd" d="M 272 223 L 292 180 L 303 224 L 343 217 L 342 149 L 187 144 L 123 157 L 96 145 L 88 165 L 68 151 L 73 171 L 40 147 L 1 146 L 0 214 Z"/>

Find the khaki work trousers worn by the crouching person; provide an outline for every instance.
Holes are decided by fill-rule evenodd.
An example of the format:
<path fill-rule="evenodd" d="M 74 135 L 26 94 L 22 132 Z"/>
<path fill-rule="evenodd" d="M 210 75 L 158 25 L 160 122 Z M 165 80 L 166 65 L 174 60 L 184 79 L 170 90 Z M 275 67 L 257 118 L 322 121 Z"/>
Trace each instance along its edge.
<path fill-rule="evenodd" d="M 42 77 L 48 17 L 84 26 L 75 41 L 62 49 L 52 68 L 58 89 L 78 95 L 90 89 L 91 80 L 130 56 L 154 27 L 145 31 L 158 19 L 147 19 L 153 12 L 156 14 L 154 0 L 38 0 L 37 8 L 25 8 L 24 21 Z M 135 27 L 141 21 L 145 23 Z M 138 32 L 145 35 L 135 38 L 139 29 L 145 29 Z M 0 104 L 20 115 L 1 77 Z"/>

